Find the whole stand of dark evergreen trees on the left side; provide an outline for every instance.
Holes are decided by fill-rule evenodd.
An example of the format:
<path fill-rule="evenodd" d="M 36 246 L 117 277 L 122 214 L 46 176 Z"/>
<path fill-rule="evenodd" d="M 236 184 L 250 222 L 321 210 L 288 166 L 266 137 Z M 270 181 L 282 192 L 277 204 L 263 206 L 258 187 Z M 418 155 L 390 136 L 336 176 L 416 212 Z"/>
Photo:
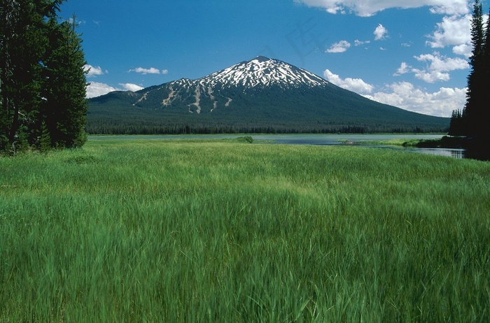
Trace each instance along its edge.
<path fill-rule="evenodd" d="M 86 64 L 64 0 L 1 0 L 0 152 L 80 147 L 86 141 Z"/>

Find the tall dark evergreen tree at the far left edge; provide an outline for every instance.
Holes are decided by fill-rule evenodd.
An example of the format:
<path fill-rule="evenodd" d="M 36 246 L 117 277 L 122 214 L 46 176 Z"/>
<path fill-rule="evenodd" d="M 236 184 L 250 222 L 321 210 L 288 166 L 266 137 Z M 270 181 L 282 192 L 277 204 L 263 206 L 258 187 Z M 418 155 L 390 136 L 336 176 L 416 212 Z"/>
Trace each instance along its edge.
<path fill-rule="evenodd" d="M 40 105 L 41 1 L 1 1 L 1 149 L 27 145 Z"/>

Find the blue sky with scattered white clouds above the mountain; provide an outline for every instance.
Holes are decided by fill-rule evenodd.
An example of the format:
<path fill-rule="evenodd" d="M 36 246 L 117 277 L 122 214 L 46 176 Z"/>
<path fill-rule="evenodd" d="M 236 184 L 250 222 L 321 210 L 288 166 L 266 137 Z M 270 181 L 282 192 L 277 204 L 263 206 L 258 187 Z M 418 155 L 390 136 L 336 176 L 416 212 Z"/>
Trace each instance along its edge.
<path fill-rule="evenodd" d="M 87 96 L 201 78 L 258 55 L 428 115 L 463 108 L 473 0 L 68 0 Z M 483 1 L 488 13 L 488 1 Z"/>

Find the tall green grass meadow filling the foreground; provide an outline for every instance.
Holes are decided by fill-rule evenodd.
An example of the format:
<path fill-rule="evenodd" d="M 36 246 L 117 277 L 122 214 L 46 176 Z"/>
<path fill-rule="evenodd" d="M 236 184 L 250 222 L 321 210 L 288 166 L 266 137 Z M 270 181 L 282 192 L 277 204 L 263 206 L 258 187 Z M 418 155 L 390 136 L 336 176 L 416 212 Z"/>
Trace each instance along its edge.
<path fill-rule="evenodd" d="M 489 322 L 490 164 L 89 141 L 0 158 L 0 322 Z"/>

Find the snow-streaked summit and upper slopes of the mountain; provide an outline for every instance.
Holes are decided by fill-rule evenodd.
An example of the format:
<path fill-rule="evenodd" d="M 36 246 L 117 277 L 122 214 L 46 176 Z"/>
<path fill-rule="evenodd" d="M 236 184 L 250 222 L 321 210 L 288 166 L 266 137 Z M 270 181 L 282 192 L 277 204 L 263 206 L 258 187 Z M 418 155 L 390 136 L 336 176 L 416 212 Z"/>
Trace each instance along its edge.
<path fill-rule="evenodd" d="M 147 102 L 154 102 L 152 96 L 156 95 L 163 96 L 163 108 L 187 106 L 190 113 L 200 114 L 227 108 L 237 96 L 257 96 L 265 89 L 267 92 L 284 92 L 329 85 L 330 82 L 314 73 L 278 59 L 259 56 L 197 80 L 183 78 L 150 90 L 143 89 L 140 92 L 144 95 L 134 105 L 146 106 Z"/>

